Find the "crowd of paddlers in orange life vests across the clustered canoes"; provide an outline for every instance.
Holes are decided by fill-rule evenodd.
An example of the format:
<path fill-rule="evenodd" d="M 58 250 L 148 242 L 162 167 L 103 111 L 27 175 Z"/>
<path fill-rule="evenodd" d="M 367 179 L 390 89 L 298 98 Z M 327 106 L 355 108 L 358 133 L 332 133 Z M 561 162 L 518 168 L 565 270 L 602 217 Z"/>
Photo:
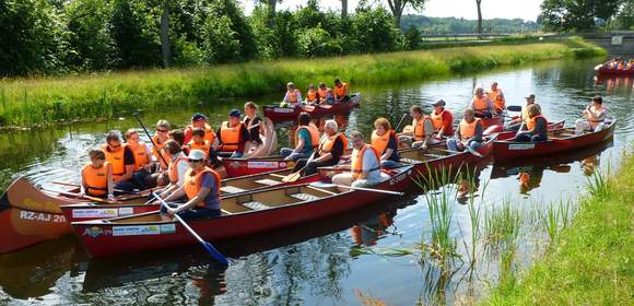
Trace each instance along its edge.
<path fill-rule="evenodd" d="M 289 91 L 292 90 L 290 86 Z M 348 94 L 348 90 L 344 93 Z M 535 99 L 532 94 L 527 96 L 521 115 L 510 122 L 518 130 L 516 141 L 548 139 L 548 120 Z M 505 109 L 504 94 L 495 82 L 488 93 L 481 87 L 476 89 L 471 107 L 465 109 L 456 129 L 454 114 L 445 108 L 446 103 L 438 99 L 432 105 L 434 110 L 430 115 L 424 114 L 422 106 L 411 106 L 412 122 L 401 132 L 396 131 L 398 127 L 392 129 L 388 119 L 376 119 L 369 143 L 364 141 L 360 131 L 352 131 L 348 138 L 336 120 L 326 120 L 318 128 L 315 118 L 301 113 L 296 130 L 290 133 L 294 146 L 282 148 L 280 155 L 295 162 L 293 174 L 307 176 L 316 174 L 319 167 L 334 166 L 343 172 L 332 177 L 333 184 L 367 187 L 384 179 L 381 168 L 398 166 L 399 149 L 426 150 L 428 145 L 446 140 L 451 151 L 478 150 L 484 132 L 480 117 L 498 116 Z M 82 169 L 82 192 L 111 199 L 117 192 L 160 187 L 158 193 L 166 201 L 181 201 L 173 204 L 168 213 L 179 213 L 184 219 L 220 215 L 219 195 L 223 176 L 220 160 L 254 156 L 250 153 L 262 146 L 260 134 L 265 121 L 257 116 L 258 107 L 246 103 L 244 109 L 242 119 L 239 110 L 231 110 L 228 120 L 222 122 L 216 131 L 202 114 L 195 114 L 184 130 L 171 130 L 169 122 L 158 120 L 151 146 L 140 141 L 136 129 L 126 132 L 126 143 L 121 143 L 117 131 L 109 132 L 101 150 L 90 152 L 91 163 Z M 601 97 L 592 98 L 591 105 L 584 110 L 584 117 L 576 122 L 577 133 L 604 127 L 606 108 Z M 349 142 L 352 152 L 348 151 Z M 341 165 L 341 157 L 348 154 L 350 163 Z"/>

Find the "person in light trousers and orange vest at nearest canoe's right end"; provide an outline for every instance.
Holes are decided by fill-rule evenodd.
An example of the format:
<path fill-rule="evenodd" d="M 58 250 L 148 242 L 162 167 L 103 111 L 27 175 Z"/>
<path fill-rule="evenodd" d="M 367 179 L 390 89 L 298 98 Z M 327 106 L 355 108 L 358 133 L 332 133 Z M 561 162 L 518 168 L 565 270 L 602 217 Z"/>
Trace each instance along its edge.
<path fill-rule="evenodd" d="M 376 185 L 381 180 L 379 152 L 363 141 L 363 134 L 360 131 L 350 133 L 350 140 L 353 148 L 350 172 L 334 175 L 332 184 L 352 187 Z M 345 191 L 347 189 L 340 187 L 340 190 Z"/>

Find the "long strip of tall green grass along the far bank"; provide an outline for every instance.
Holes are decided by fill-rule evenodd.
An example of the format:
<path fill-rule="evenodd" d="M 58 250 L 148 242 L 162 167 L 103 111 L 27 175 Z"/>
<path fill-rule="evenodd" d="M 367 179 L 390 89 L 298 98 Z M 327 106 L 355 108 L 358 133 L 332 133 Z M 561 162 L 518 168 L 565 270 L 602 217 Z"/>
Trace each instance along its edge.
<path fill-rule="evenodd" d="M 294 81 L 354 85 L 424 80 L 501 66 L 604 55 L 579 39 L 508 46 L 447 48 L 313 60 L 248 62 L 188 70 L 150 70 L 0 82 L 0 127 L 33 126 L 120 111 L 195 104 L 213 97 L 280 93 Z"/>

